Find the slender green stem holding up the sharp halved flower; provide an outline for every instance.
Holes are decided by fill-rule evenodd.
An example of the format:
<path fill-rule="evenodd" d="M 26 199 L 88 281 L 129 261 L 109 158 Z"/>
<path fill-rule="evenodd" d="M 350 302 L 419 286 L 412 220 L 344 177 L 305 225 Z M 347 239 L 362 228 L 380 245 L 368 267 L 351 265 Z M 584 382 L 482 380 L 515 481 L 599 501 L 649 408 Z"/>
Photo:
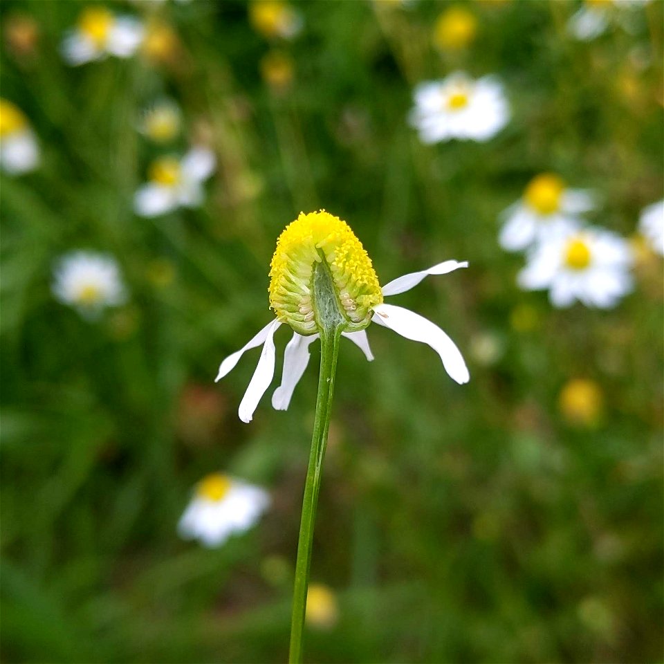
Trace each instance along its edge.
<path fill-rule="evenodd" d="M 302 501 L 302 521 L 299 525 L 297 542 L 297 562 L 295 563 L 295 588 L 293 589 L 293 614 L 291 616 L 291 664 L 302 662 L 302 631 L 306 611 L 306 591 L 309 584 L 309 566 L 311 564 L 311 543 L 313 526 L 316 519 L 318 492 L 322 479 L 323 457 L 330 428 L 332 395 L 339 354 L 342 325 L 326 327 L 320 333 L 320 376 L 318 378 L 318 396 L 316 415 L 311 438 L 311 452 L 304 484 Z"/>

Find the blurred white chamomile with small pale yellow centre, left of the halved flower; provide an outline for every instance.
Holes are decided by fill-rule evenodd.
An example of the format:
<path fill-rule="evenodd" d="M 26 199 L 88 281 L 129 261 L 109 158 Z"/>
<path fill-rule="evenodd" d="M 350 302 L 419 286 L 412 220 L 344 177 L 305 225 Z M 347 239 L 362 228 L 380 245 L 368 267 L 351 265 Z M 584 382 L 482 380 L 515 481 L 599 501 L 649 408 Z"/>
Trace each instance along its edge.
<path fill-rule="evenodd" d="M 53 295 L 85 317 L 127 299 L 116 260 L 87 251 L 71 252 L 60 259 L 54 271 Z"/>

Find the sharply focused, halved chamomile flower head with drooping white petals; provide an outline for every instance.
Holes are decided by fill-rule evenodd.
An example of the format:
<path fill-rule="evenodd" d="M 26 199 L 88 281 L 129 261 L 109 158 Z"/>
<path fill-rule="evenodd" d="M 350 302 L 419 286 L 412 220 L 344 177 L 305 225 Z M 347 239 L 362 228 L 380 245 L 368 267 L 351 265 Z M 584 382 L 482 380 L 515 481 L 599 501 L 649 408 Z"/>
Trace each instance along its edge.
<path fill-rule="evenodd" d="M 279 236 L 272 259 L 269 293 L 275 320 L 221 362 L 216 380 L 228 374 L 245 351 L 263 347 L 239 407 L 240 419 L 250 422 L 274 377 L 275 331 L 288 324 L 293 329 L 293 338 L 286 345 L 282 382 L 272 398 L 275 409 L 286 410 L 308 365 L 309 346 L 319 338 L 322 311 L 327 304 L 335 308 L 333 315 L 338 315 L 342 324 L 342 336 L 356 344 L 367 360 L 373 360 L 374 356 L 365 329 L 374 321 L 407 339 L 428 344 L 439 354 L 443 367 L 454 380 L 460 384 L 468 382 L 470 377 L 463 357 L 443 330 L 413 311 L 383 302 L 383 297 L 409 291 L 427 275 L 445 275 L 465 267 L 468 263 L 445 261 L 428 270 L 398 277 L 380 288 L 369 255 L 345 221 L 324 210 L 301 212 Z M 322 296 L 317 295 L 330 289 L 334 293 L 333 305 L 329 300 L 322 302 Z"/>

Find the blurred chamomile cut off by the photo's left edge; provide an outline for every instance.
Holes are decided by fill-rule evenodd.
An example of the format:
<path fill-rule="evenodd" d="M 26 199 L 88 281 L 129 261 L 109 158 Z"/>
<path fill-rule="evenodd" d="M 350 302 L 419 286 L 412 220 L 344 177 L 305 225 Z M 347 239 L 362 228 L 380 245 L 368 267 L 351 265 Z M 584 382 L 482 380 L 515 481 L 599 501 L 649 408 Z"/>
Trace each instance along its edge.
<path fill-rule="evenodd" d="M 39 165 L 39 145 L 28 118 L 12 102 L 0 99 L 0 167 L 19 175 Z"/>

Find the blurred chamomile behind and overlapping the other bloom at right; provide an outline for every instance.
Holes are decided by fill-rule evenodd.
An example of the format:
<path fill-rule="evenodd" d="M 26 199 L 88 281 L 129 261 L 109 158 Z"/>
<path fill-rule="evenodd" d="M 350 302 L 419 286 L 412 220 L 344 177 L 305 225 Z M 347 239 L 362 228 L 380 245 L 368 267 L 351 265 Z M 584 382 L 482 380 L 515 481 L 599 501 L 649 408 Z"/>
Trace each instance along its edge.
<path fill-rule="evenodd" d="M 522 198 L 502 213 L 498 241 L 508 251 L 525 249 L 555 232 L 560 223 L 594 207 L 592 192 L 569 189 L 559 176 L 542 173 L 528 183 Z"/>

